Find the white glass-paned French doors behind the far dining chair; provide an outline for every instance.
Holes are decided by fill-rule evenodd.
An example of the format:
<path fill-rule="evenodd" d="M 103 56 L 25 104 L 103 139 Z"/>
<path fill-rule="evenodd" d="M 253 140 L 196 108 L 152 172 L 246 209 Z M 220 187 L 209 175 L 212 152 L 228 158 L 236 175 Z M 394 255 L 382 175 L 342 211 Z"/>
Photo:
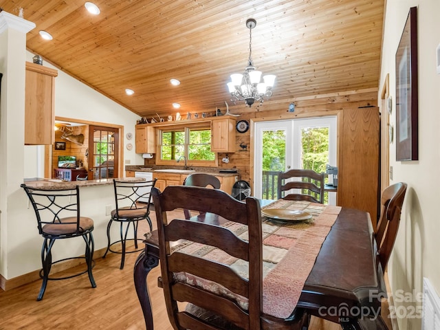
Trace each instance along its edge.
<path fill-rule="evenodd" d="M 336 116 L 256 122 L 254 153 L 254 195 L 277 199 L 278 172 L 291 168 L 325 172 L 337 166 Z M 336 194 L 326 202 L 335 205 Z"/>

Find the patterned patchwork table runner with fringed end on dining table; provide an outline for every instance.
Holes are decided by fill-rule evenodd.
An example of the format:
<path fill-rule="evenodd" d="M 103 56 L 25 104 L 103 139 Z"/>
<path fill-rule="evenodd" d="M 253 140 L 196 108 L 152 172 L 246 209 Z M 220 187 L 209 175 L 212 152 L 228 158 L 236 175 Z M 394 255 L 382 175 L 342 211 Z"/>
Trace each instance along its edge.
<path fill-rule="evenodd" d="M 341 210 L 339 206 L 327 206 L 309 201 L 287 201 L 279 199 L 267 208 L 286 208 L 310 212 L 309 221 L 282 222 L 263 219 L 263 312 L 277 318 L 288 318 L 298 303 L 305 281 L 314 266 L 331 226 Z M 248 226 L 241 223 L 223 224 L 245 241 L 248 240 Z M 172 252 L 197 255 L 212 261 L 230 265 L 241 276 L 248 278 L 248 262 L 236 259 L 210 245 L 185 241 Z M 217 283 L 197 276 L 175 274 L 177 281 L 197 285 L 203 289 L 234 298 L 247 309 L 247 299 L 230 292 Z"/>

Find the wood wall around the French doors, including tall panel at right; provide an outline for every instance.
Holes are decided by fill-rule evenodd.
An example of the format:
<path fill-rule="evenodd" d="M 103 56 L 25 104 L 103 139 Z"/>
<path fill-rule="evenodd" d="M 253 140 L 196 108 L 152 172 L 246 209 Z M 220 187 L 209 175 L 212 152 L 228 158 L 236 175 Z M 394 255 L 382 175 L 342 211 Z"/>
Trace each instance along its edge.
<path fill-rule="evenodd" d="M 290 102 L 296 104 L 293 113 L 288 112 Z M 261 109 L 264 108 L 264 111 Z M 309 118 L 325 115 L 338 117 L 338 193 L 339 206 L 358 208 L 370 212 L 373 225 L 377 217 L 379 180 L 379 110 L 377 89 L 347 91 L 333 95 L 292 98 L 283 102 L 265 102 L 263 107 L 230 107 L 230 112 L 240 114 L 238 120 L 251 122 L 251 129 L 236 133 L 235 153 L 228 153 L 230 162 L 221 159 L 226 153 L 218 153 L 219 168 L 238 168 L 240 179 L 250 182 L 253 191 L 254 137 L 252 122 Z M 248 147 L 246 150 L 240 144 Z M 144 159 L 146 166 L 155 159 Z"/>

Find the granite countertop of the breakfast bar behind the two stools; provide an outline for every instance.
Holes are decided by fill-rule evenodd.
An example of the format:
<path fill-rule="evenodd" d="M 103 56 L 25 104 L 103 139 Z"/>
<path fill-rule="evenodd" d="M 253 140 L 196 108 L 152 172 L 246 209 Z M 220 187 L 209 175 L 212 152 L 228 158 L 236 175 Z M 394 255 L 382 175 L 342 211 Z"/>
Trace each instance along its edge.
<path fill-rule="evenodd" d="M 144 181 L 142 177 L 124 177 L 120 178 L 124 181 Z M 91 187 L 91 186 L 106 186 L 113 185 L 113 178 L 111 179 L 100 179 L 100 180 L 85 180 L 85 181 L 62 181 L 58 179 L 44 179 L 39 177 L 34 177 L 30 179 L 24 179 L 24 184 L 32 188 L 45 188 L 45 189 L 74 189 L 76 186 L 81 187 Z"/>

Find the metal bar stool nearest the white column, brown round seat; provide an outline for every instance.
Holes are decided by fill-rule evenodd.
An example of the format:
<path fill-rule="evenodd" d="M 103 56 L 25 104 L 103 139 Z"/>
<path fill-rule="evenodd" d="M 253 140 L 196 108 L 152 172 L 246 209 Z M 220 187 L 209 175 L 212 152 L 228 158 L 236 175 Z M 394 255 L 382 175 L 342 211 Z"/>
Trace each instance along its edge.
<path fill-rule="evenodd" d="M 32 203 L 39 233 L 44 238 L 41 248 L 43 268 L 40 271 L 43 283 L 36 300 L 43 299 L 49 280 L 64 280 L 87 273 L 89 274 L 91 287 L 96 287 L 94 276 L 91 274 L 94 266 L 94 237 L 91 234 L 94 230 L 94 221 L 88 217 L 80 217 L 80 191 L 78 186 L 74 189 L 47 190 L 21 184 L 21 188 L 25 190 Z M 57 239 L 70 239 L 78 236 L 83 237 L 85 241 L 85 256 L 74 256 L 52 261 L 52 248 Z M 87 270 L 64 277 L 50 276 L 52 265 L 71 259 L 85 259 Z"/>

